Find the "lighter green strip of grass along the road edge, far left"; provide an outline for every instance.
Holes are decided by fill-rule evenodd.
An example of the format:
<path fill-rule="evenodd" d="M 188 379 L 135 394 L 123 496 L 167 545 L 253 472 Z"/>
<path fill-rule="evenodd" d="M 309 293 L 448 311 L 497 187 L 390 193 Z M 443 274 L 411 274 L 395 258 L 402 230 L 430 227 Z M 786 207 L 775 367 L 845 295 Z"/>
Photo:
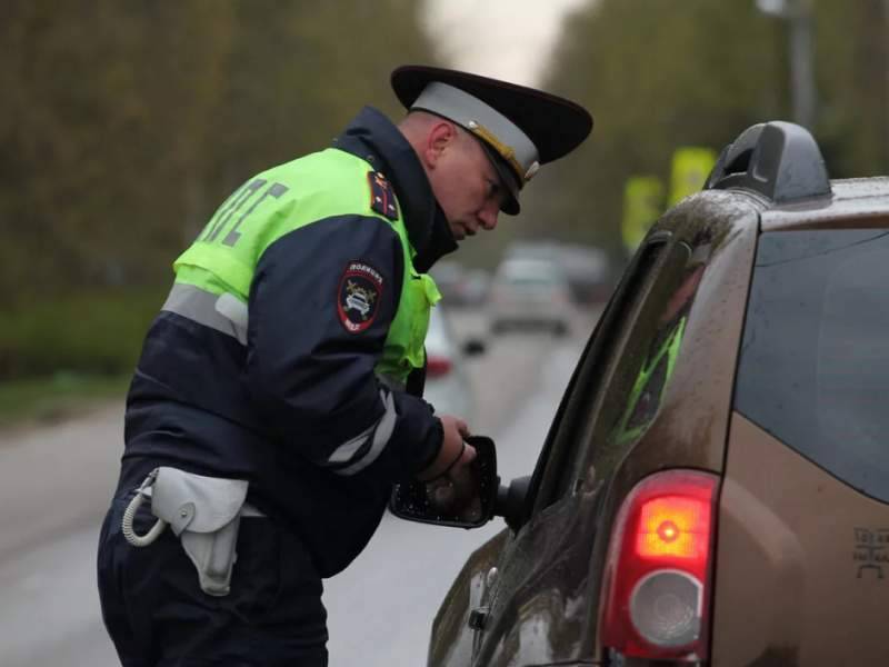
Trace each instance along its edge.
<path fill-rule="evenodd" d="M 0 428 L 54 424 L 80 417 L 110 400 L 123 400 L 129 376 L 60 372 L 51 378 L 0 382 Z"/>

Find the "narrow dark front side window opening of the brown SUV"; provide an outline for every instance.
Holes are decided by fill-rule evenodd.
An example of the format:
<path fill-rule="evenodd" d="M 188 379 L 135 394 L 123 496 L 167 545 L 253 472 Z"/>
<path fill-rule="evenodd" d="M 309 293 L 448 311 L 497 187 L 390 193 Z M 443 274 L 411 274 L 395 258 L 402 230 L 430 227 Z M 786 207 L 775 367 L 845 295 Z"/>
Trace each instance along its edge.
<path fill-rule="evenodd" d="M 531 482 L 533 510 L 539 511 L 570 490 L 570 471 L 582 458 L 580 444 L 589 422 L 591 397 L 599 392 L 605 370 L 621 348 L 639 306 L 655 287 L 668 253 L 666 237 L 653 237 L 636 256 L 602 313 L 562 397 Z"/>

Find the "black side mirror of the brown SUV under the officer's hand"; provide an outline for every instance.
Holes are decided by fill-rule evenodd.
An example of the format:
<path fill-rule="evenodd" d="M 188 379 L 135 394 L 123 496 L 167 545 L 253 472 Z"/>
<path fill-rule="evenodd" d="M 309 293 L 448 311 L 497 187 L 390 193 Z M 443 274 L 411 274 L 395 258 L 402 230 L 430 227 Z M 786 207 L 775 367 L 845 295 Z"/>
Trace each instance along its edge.
<path fill-rule="evenodd" d="M 409 521 L 458 528 L 479 528 L 491 520 L 500 486 L 497 449 L 493 440 L 486 436 L 469 436 L 466 441 L 476 448 L 476 458 L 470 464 L 476 492 L 470 498 L 457 507 L 442 509 L 432 501 L 431 482 L 414 479 L 394 485 L 389 511 Z"/>

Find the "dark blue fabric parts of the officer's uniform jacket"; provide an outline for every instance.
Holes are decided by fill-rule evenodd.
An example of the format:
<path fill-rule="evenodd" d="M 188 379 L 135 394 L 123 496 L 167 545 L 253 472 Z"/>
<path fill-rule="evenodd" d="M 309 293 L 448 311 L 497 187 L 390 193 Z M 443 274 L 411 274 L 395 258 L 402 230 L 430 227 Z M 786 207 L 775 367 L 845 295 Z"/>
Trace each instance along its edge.
<path fill-rule="evenodd" d="M 384 116 L 364 108 L 334 146 L 367 160 L 394 188 L 418 271 L 456 249 L 413 149 Z M 386 221 L 354 218 L 314 222 L 267 249 L 250 290 L 247 346 L 160 312 L 128 396 L 120 482 L 130 490 L 159 465 L 249 479 L 249 500 L 294 531 L 326 577 L 363 549 L 392 482 L 430 462 L 442 437 L 431 407 L 411 395 L 411 378 L 409 391 L 392 392 L 398 420 L 370 466 L 342 476 L 319 465 L 384 411 L 373 364 L 394 317 L 403 252 Z M 346 332 L 337 316 L 341 267 L 354 259 L 392 286 L 360 336 Z"/>

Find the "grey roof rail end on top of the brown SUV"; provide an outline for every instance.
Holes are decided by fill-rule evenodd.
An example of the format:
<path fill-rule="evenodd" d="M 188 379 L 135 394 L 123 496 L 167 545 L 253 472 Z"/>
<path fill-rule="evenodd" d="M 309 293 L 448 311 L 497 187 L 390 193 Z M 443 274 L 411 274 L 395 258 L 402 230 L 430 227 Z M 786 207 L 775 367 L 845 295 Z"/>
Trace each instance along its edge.
<path fill-rule="evenodd" d="M 830 195 L 830 178 L 815 138 L 775 120 L 747 128 L 719 156 L 705 189 L 746 188 L 775 202 Z"/>

